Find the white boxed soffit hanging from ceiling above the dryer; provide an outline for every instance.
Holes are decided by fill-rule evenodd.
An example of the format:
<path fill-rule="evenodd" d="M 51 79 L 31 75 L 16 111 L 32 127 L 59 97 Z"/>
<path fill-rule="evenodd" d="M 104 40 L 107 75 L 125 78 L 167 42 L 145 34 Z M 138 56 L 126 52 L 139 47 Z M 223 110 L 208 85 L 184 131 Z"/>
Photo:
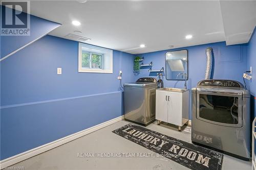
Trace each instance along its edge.
<path fill-rule="evenodd" d="M 256 25 L 256 1 L 220 1 L 227 45 L 247 43 Z"/>

